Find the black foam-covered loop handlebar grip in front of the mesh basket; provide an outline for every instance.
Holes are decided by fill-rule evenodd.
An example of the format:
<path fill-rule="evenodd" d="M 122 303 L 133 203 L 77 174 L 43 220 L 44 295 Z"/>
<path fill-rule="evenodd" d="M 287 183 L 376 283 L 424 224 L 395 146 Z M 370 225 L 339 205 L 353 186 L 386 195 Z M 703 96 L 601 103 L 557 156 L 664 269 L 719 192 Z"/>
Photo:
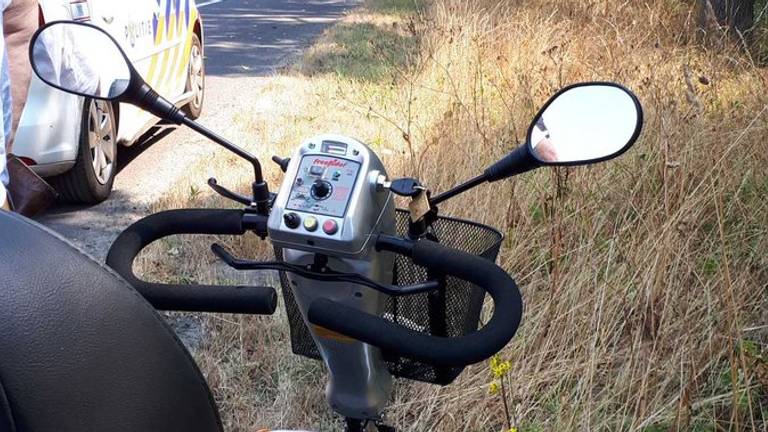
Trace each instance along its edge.
<path fill-rule="evenodd" d="M 378 246 L 404 253 L 402 247 L 392 244 L 379 243 Z M 309 321 L 385 351 L 436 366 L 477 363 L 509 343 L 520 326 L 523 303 L 515 281 L 504 270 L 489 260 L 427 240 L 415 243 L 409 254 L 414 263 L 430 271 L 455 276 L 487 291 L 494 301 L 493 316 L 488 324 L 466 336 L 430 336 L 327 299 L 312 302 Z"/>

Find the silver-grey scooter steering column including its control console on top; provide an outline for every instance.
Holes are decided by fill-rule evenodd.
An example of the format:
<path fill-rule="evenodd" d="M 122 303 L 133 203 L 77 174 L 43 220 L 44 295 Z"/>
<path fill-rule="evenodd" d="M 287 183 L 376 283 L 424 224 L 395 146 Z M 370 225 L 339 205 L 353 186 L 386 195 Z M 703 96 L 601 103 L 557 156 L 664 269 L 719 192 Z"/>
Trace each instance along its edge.
<path fill-rule="evenodd" d="M 308 267 L 324 255 L 330 270 L 391 284 L 394 255 L 373 247 L 379 233 L 395 231 L 394 198 L 378 186 L 379 177 L 385 176 L 379 158 L 354 139 L 322 135 L 302 143 L 269 217 L 269 237 L 282 259 Z M 352 282 L 320 282 L 291 273 L 285 277 L 328 367 L 328 402 L 345 417 L 376 418 L 392 390 L 381 351 L 313 325 L 307 313 L 313 301 L 324 298 L 381 315 L 387 296 Z"/>

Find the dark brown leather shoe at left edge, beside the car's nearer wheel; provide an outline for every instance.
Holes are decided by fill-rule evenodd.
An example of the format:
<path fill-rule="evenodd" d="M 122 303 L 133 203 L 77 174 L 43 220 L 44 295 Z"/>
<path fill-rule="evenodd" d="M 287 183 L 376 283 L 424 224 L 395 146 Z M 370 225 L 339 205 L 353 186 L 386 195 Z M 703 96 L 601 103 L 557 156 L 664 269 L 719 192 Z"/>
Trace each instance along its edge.
<path fill-rule="evenodd" d="M 16 213 L 33 217 L 56 201 L 56 191 L 16 156 L 8 156 L 8 174 L 8 193 Z"/>

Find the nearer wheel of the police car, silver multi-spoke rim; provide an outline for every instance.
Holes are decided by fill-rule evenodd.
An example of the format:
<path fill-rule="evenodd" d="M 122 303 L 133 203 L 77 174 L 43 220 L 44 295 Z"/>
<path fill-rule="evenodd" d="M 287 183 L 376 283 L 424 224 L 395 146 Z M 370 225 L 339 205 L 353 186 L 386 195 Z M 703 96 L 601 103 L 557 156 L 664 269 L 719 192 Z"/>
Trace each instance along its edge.
<path fill-rule="evenodd" d="M 75 166 L 51 179 L 64 201 L 97 204 L 109 197 L 117 173 L 117 116 L 110 102 L 86 99 Z"/>

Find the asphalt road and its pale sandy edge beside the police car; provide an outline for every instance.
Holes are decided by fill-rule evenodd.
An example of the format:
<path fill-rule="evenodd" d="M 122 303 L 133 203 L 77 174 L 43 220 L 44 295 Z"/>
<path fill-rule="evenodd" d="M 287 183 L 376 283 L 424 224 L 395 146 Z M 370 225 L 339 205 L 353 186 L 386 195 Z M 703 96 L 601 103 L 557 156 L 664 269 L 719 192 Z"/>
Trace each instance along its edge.
<path fill-rule="evenodd" d="M 200 121 L 226 136 L 233 113 L 256 101 L 258 87 L 359 0 L 198 1 L 205 31 L 206 93 Z M 248 112 L 248 111 L 246 111 Z M 128 225 L 217 146 L 186 129 L 167 130 L 118 154 L 112 197 L 92 207 L 58 206 L 40 221 L 99 260 Z"/>

